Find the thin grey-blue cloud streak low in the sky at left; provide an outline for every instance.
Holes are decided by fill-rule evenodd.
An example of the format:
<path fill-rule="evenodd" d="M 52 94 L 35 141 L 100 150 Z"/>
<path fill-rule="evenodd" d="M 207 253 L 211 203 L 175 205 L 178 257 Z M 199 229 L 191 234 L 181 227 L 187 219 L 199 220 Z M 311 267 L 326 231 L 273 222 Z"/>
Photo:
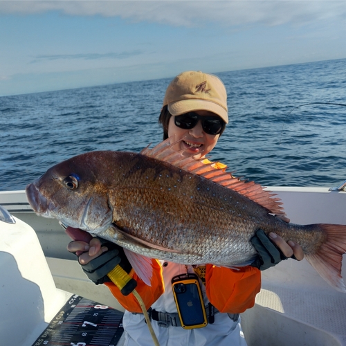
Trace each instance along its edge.
<path fill-rule="evenodd" d="M 121 53 L 80 53 L 80 54 L 55 54 L 55 55 L 36 55 L 35 60 L 31 63 L 41 62 L 42 60 L 70 60 L 70 59 L 82 59 L 82 60 L 99 60 L 99 59 L 127 59 L 127 57 L 133 57 L 140 55 L 142 52 L 138 49 L 131 52 Z"/>

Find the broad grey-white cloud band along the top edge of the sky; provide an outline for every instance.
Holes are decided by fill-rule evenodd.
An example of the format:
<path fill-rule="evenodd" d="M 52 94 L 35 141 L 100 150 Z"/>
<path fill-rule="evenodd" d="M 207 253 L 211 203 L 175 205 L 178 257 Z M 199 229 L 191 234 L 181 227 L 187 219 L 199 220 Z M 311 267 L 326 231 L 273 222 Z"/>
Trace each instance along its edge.
<path fill-rule="evenodd" d="M 0 1 L 0 14 L 32 15 L 59 11 L 64 15 L 122 17 L 172 26 L 244 24 L 302 25 L 325 19 L 345 19 L 345 1 Z"/>

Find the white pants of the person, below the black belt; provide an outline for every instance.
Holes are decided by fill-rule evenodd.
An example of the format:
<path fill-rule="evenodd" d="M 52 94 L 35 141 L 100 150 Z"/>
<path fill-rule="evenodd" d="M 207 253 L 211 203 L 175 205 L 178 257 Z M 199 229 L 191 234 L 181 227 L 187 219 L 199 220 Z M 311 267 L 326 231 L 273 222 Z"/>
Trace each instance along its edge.
<path fill-rule="evenodd" d="M 125 311 L 123 318 L 125 329 L 125 346 L 152 346 L 153 340 L 149 333 L 143 314 Z M 215 322 L 197 329 L 182 327 L 159 327 L 152 320 L 152 327 L 160 346 L 246 346 L 246 341 L 239 320 L 234 322 L 227 313 L 215 314 Z"/>

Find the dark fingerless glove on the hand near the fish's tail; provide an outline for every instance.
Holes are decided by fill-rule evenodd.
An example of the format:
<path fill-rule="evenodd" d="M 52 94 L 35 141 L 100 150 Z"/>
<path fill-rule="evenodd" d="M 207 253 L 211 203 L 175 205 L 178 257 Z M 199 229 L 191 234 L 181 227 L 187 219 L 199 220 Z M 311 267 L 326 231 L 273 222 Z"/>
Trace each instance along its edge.
<path fill-rule="evenodd" d="M 288 258 L 282 253 L 280 248 L 271 242 L 263 230 L 257 230 L 250 242 L 258 253 L 258 257 L 251 266 L 260 269 L 260 271 L 265 271 L 271 268 L 271 266 L 276 266 L 276 264 Z M 294 258 L 294 256 L 292 258 Z"/>

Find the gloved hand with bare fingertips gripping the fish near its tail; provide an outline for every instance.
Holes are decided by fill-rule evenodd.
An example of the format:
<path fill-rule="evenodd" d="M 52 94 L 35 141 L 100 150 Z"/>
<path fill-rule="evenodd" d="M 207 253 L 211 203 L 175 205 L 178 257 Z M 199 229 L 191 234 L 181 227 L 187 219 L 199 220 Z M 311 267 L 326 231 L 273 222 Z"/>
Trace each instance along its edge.
<path fill-rule="evenodd" d="M 263 230 L 257 230 L 255 236 L 251 238 L 251 244 L 258 252 L 258 257 L 251 266 L 255 266 L 261 271 L 275 266 L 289 257 L 298 261 L 304 258 L 302 247 L 299 244 L 295 244 L 291 240 L 285 242 L 276 233 L 269 233 L 267 237 Z"/>

